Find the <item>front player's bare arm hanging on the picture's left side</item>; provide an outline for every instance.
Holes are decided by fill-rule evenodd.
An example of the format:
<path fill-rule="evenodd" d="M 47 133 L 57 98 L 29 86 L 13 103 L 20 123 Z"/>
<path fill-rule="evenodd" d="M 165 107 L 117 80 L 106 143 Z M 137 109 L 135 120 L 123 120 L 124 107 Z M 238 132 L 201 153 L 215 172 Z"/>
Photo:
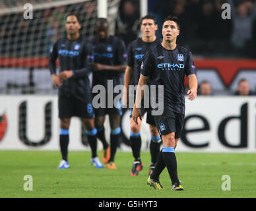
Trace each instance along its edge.
<path fill-rule="evenodd" d="M 132 113 L 133 121 L 135 121 L 137 125 L 138 125 L 138 117 L 141 120 L 143 119 L 139 105 L 141 104 L 141 100 L 143 99 L 143 96 L 144 96 L 143 86 L 146 85 L 147 82 L 148 82 L 148 76 L 141 75 L 139 79 L 139 84 L 136 90 L 136 99 L 135 99 L 135 104 L 133 106 L 133 113 Z"/>

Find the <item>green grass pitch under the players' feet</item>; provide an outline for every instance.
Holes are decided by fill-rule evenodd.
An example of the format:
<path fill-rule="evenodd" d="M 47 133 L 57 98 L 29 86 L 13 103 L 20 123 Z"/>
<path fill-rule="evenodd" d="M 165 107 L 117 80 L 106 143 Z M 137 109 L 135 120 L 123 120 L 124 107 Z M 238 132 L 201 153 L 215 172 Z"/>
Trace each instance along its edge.
<path fill-rule="evenodd" d="M 101 152 L 98 152 L 100 157 Z M 69 152 L 70 169 L 57 169 L 60 152 L 0 151 L 0 197 L 175 198 L 256 197 L 256 154 L 176 152 L 178 175 L 185 191 L 171 191 L 167 169 L 160 176 L 164 190 L 146 185 L 149 152 L 142 152 L 143 171 L 129 176 L 131 152 L 117 152 L 117 169 L 95 169 L 90 152 Z M 24 191 L 24 175 L 33 190 Z M 230 176 L 230 191 L 222 191 L 222 175 Z"/>

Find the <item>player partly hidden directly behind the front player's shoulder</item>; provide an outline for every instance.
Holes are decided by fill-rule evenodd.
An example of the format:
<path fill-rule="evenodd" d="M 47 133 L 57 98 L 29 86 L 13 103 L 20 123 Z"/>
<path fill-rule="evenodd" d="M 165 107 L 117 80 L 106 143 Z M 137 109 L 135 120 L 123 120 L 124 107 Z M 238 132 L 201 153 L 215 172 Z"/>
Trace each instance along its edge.
<path fill-rule="evenodd" d="M 131 96 L 135 96 L 136 92 L 134 89 L 129 90 L 129 85 L 136 86 L 139 82 L 139 76 L 141 75 L 141 61 L 143 59 L 144 54 L 150 47 L 155 47 L 156 45 L 161 43 L 161 40 L 156 37 L 156 30 L 158 29 L 158 25 L 156 24 L 156 18 L 152 15 L 146 15 L 143 18 L 141 18 L 141 31 L 143 32 L 142 38 L 138 38 L 137 40 L 134 40 L 131 42 L 131 44 L 128 47 L 128 53 L 127 53 L 127 67 L 125 70 L 125 81 L 124 81 L 124 94 L 123 94 L 123 102 L 129 105 L 129 94 Z M 148 86 L 150 86 L 150 81 L 148 81 Z M 134 102 L 134 98 L 131 98 L 132 102 Z M 145 99 L 150 102 L 150 99 Z M 139 171 L 143 169 L 143 163 L 141 162 L 141 121 L 138 121 L 138 124 L 136 124 L 132 117 L 133 109 L 130 109 L 130 127 L 131 127 L 131 133 L 130 133 L 130 143 L 131 143 L 131 150 L 133 152 L 133 167 L 131 169 L 130 175 L 131 176 L 137 176 L 139 175 Z M 156 162 L 158 159 L 158 154 L 160 152 L 160 144 L 161 144 L 161 138 L 158 133 L 158 129 L 156 127 L 156 124 L 154 122 L 154 117 L 151 115 L 151 109 L 150 107 L 144 107 L 142 105 L 141 112 L 142 116 L 144 113 L 147 112 L 146 116 L 146 123 L 149 124 L 150 127 L 150 155 L 151 155 L 151 164 L 150 164 L 150 170 L 149 173 L 152 173 L 152 170 L 156 166 Z"/>

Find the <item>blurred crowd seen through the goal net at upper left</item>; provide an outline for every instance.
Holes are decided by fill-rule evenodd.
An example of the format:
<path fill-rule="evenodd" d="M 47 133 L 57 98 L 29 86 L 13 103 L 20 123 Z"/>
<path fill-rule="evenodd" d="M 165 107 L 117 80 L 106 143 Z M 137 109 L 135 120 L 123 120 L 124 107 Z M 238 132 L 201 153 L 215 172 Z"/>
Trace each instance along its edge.
<path fill-rule="evenodd" d="M 50 3 L 53 0 L 34 0 L 32 3 Z M 12 1 L 10 1 L 12 3 Z M 15 6 L 20 6 L 21 3 Z M 1 5 L 0 10 L 7 7 Z M 97 16 L 95 1 L 47 7 L 33 11 L 33 19 L 25 20 L 22 13 L 1 15 L 0 13 L 0 57 L 48 57 L 55 40 L 65 34 L 65 16 L 69 13 L 80 15 L 81 33 L 86 37 L 94 35 L 94 21 Z"/>

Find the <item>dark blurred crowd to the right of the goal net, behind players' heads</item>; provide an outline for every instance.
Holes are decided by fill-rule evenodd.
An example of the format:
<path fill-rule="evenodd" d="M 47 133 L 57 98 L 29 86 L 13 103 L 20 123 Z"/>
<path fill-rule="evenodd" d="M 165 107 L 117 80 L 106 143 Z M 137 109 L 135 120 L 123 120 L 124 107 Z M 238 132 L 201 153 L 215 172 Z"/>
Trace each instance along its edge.
<path fill-rule="evenodd" d="M 230 5 L 231 19 L 222 18 L 224 3 Z M 148 0 L 148 13 L 160 26 L 164 17 L 176 15 L 181 22 L 178 43 L 196 55 L 256 57 L 255 0 Z M 121 0 L 116 32 L 126 43 L 139 33 L 139 17 L 138 0 Z"/>

